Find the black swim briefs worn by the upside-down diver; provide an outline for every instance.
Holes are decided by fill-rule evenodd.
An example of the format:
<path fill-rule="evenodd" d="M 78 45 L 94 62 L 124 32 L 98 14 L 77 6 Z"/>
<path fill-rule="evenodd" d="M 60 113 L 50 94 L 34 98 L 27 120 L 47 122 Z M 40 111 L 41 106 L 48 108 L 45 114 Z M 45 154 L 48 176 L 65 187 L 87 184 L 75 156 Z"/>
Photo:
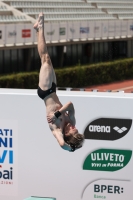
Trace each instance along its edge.
<path fill-rule="evenodd" d="M 48 90 L 44 91 L 40 87 L 38 87 L 38 90 L 37 90 L 37 94 L 41 99 L 44 99 L 45 97 L 47 97 L 48 95 L 50 95 L 53 92 L 56 93 L 56 84 L 55 83 L 52 83 L 51 88 Z"/>

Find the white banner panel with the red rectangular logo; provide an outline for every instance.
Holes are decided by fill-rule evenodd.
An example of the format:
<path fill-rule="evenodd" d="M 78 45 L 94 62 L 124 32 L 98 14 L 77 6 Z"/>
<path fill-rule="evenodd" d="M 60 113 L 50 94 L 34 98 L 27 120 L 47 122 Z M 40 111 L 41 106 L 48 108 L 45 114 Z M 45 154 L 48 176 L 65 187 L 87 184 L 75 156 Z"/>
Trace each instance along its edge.
<path fill-rule="evenodd" d="M 24 43 L 33 43 L 33 24 L 24 24 L 24 29 L 22 29 L 21 37 L 24 39 Z"/>

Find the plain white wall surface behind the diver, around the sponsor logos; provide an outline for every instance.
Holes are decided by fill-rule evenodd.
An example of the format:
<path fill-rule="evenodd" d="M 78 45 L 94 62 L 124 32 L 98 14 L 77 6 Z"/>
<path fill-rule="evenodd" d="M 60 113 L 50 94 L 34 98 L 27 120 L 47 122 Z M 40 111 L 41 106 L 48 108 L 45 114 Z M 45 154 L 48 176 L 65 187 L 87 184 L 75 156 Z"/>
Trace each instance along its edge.
<path fill-rule="evenodd" d="M 101 117 L 133 119 L 133 94 L 69 91 L 58 91 L 57 94 L 63 104 L 68 101 L 74 103 L 80 133 L 91 121 Z M 82 165 L 88 154 L 100 148 L 132 150 L 133 126 L 119 140 L 86 140 L 83 148 L 71 153 L 62 150 L 50 132 L 45 106 L 36 90 L 1 89 L 0 113 L 0 120 L 18 122 L 18 191 L 15 192 L 18 195 L 6 196 L 5 193 L 0 199 L 23 200 L 30 196 L 49 196 L 57 200 L 80 200 L 87 184 L 99 179 L 115 179 L 130 180 L 128 200 L 132 200 L 133 158 L 117 172 L 87 171 L 82 170 Z M 88 194 L 89 200 L 93 200 L 94 191 L 91 192 L 90 196 Z M 118 200 L 117 195 L 107 200 L 112 198 Z M 121 197 L 121 200 L 125 198 Z"/>

